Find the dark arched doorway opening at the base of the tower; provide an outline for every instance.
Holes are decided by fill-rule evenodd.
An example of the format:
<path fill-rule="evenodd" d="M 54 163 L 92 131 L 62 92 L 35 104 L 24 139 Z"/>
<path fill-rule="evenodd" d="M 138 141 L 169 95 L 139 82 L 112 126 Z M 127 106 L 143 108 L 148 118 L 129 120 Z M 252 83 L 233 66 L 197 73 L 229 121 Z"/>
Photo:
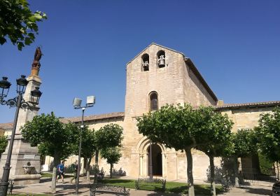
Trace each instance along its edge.
<path fill-rule="evenodd" d="M 152 166 L 153 166 L 153 176 L 162 176 L 162 149 L 158 144 L 152 144 L 152 156 L 150 155 L 150 147 L 147 148 L 148 153 L 148 174 L 149 174 L 149 167 L 152 158 Z"/>

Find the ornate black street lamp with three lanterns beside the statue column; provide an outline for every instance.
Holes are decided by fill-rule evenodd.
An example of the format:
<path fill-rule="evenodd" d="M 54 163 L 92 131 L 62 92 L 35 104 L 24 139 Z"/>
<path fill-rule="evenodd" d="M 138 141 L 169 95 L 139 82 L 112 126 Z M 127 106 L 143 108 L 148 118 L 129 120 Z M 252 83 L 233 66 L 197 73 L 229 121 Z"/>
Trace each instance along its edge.
<path fill-rule="evenodd" d="M 36 105 L 38 105 L 38 101 L 42 95 L 42 92 L 38 90 L 39 88 L 36 87 L 35 90 L 31 91 L 31 102 L 25 102 L 25 99 L 22 99 L 22 94 L 25 93 L 25 88 L 28 84 L 27 79 L 25 76 L 21 76 L 17 79 L 17 93 L 18 96 L 13 99 L 8 99 L 7 101 L 4 100 L 5 97 L 8 95 L 8 91 L 10 89 L 10 82 L 8 82 L 7 77 L 3 77 L 3 80 L 0 81 L 0 104 L 7 105 L 10 107 L 17 107 L 15 111 L 15 119 L 13 121 L 13 130 L 12 135 L 10 136 L 10 145 L 8 148 L 8 154 L 6 158 L 5 167 L 3 167 L 3 176 L 0 182 L 0 196 L 6 196 L 8 191 L 8 178 L 10 175 L 10 158 L 12 156 L 13 151 L 13 141 L 15 139 L 15 129 L 18 123 L 18 113 L 20 109 L 29 109 L 34 110 L 36 109 Z"/>

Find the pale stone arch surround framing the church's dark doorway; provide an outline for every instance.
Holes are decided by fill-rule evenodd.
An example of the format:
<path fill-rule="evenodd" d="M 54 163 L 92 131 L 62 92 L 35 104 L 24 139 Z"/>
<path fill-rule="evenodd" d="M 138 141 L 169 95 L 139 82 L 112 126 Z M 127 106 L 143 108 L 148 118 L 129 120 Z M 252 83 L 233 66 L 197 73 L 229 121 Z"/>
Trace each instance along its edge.
<path fill-rule="evenodd" d="M 163 178 L 167 177 L 167 149 L 162 144 L 153 144 L 155 145 L 154 155 L 155 155 L 155 171 L 158 176 Z M 148 165 L 149 165 L 149 146 L 150 140 L 146 137 L 143 137 L 137 144 L 137 153 L 139 153 L 139 177 L 148 177 Z M 153 146 L 152 146 L 152 155 L 153 155 Z M 161 158 L 161 162 L 160 162 Z M 153 159 L 152 159 L 153 164 Z M 161 166 L 161 167 L 160 167 Z M 160 174 L 161 173 L 161 174 Z M 157 176 L 157 175 L 156 175 Z"/>

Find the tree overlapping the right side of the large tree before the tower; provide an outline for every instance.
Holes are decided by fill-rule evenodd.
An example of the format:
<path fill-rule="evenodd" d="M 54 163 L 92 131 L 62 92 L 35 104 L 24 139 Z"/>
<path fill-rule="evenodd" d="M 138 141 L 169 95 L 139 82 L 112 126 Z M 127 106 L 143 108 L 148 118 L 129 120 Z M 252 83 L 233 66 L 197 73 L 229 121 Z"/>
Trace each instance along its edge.
<path fill-rule="evenodd" d="M 200 107 L 197 112 L 201 113 L 204 125 L 201 127 L 204 134 L 204 144 L 196 146 L 197 150 L 204 152 L 210 162 L 211 195 L 216 196 L 215 188 L 215 165 L 214 158 L 232 153 L 233 145 L 231 139 L 232 120 L 227 115 L 214 111 L 212 107 Z"/>

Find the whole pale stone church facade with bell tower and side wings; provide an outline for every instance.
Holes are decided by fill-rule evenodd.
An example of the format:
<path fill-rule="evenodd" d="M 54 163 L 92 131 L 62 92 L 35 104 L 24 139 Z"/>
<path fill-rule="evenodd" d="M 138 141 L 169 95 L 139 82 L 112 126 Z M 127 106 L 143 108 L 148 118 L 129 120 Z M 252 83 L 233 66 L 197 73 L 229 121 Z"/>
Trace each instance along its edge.
<path fill-rule="evenodd" d="M 125 112 L 85 116 L 85 125 L 99 130 L 109 123 L 123 127 L 122 158 L 114 165 L 116 170 L 132 178 L 147 177 L 150 162 L 150 141 L 139 134 L 137 118 L 143 113 L 158 109 L 165 104 L 188 103 L 193 107 L 214 106 L 217 111 L 227 113 L 235 125 L 232 132 L 258 125 L 260 113 L 271 112 L 280 102 L 258 102 L 248 104 L 224 104 L 218 100 L 190 58 L 162 45 L 152 43 L 127 63 Z M 80 123 L 80 118 L 62 118 L 63 123 Z M 0 133 L 8 134 L 10 124 L 0 124 Z M 209 158 L 200 151 L 193 153 L 193 175 L 195 180 L 205 180 Z M 70 158 L 66 164 L 73 162 Z M 45 160 L 50 163 L 50 159 Z M 216 165 L 220 159 L 216 158 Z M 92 162 L 92 165 L 94 163 Z M 183 152 L 152 144 L 153 174 L 168 180 L 186 179 L 187 162 Z M 99 168 L 109 174 L 109 165 L 99 161 Z M 241 169 L 258 172 L 254 158 L 241 160 Z"/>

